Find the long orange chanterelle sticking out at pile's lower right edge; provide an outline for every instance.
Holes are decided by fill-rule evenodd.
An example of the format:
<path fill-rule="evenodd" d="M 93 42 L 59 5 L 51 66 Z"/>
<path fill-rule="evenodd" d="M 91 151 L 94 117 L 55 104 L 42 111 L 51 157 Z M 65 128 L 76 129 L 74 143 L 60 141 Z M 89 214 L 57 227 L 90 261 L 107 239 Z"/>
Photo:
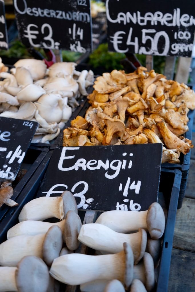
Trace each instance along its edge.
<path fill-rule="evenodd" d="M 158 127 L 158 130 L 160 131 L 163 137 L 163 140 L 167 148 L 169 149 L 176 148 L 178 151 L 182 152 L 183 154 L 186 154 L 189 152 L 190 148 L 194 147 L 193 145 L 191 145 L 191 142 L 189 141 L 184 142 L 180 138 L 178 138 L 176 135 L 174 135 L 168 129 L 165 122 L 161 118 L 156 118 L 155 122 Z"/>

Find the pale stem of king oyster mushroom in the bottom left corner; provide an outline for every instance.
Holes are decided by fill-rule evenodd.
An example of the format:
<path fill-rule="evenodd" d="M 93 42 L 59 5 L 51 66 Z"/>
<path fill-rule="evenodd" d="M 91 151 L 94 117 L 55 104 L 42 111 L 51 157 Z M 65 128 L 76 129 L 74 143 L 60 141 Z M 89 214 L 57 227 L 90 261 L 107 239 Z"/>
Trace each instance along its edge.
<path fill-rule="evenodd" d="M 15 281 L 16 267 L 0 267 L 0 292 L 17 292 Z"/>

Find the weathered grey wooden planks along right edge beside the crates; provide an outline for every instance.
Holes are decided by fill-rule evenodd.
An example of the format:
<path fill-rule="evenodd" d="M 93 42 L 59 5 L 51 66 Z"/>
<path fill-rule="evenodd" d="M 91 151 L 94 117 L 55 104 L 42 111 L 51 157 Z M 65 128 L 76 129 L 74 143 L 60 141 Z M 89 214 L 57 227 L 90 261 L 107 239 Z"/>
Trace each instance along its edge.
<path fill-rule="evenodd" d="M 195 118 L 192 132 L 195 145 Z M 195 291 L 195 147 L 191 161 L 185 198 L 177 210 L 173 239 L 168 292 Z"/>

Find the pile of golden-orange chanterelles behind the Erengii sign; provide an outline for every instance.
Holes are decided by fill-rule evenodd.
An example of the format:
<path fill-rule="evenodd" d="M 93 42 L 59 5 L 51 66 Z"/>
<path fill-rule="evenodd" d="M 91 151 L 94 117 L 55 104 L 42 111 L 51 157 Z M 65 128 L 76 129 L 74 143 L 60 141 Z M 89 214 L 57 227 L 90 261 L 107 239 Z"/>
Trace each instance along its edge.
<path fill-rule="evenodd" d="M 195 93 L 183 83 L 145 67 L 113 70 L 96 78 L 87 98 L 91 107 L 64 130 L 63 146 L 163 143 L 162 162 L 170 163 L 193 147 L 183 134 Z"/>

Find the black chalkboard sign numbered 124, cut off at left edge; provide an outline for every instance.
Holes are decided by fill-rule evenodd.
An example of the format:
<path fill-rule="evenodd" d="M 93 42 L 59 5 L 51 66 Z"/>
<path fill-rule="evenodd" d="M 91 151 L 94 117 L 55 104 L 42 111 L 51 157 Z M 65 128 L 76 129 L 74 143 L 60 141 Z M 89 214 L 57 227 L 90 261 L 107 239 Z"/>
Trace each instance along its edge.
<path fill-rule="evenodd" d="M 38 123 L 0 117 L 0 178 L 15 180 Z"/>

